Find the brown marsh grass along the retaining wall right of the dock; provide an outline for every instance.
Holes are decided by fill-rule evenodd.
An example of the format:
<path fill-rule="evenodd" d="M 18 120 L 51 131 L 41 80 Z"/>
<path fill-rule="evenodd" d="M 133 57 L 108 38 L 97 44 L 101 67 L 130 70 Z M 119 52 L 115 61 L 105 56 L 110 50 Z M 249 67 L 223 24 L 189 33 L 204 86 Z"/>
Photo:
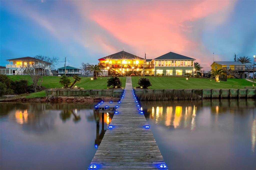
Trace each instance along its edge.
<path fill-rule="evenodd" d="M 141 101 L 164 101 L 164 100 L 200 100 L 202 96 L 198 93 L 186 91 L 165 92 L 159 94 L 146 93 L 136 95 Z"/>

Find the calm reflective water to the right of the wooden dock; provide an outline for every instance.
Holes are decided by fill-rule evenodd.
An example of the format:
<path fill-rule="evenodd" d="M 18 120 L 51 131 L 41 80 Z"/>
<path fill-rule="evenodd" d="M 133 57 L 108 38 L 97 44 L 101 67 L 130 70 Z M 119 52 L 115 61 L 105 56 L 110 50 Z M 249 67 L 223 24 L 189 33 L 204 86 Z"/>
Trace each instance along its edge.
<path fill-rule="evenodd" d="M 256 101 L 141 102 L 169 169 L 256 169 Z"/>

